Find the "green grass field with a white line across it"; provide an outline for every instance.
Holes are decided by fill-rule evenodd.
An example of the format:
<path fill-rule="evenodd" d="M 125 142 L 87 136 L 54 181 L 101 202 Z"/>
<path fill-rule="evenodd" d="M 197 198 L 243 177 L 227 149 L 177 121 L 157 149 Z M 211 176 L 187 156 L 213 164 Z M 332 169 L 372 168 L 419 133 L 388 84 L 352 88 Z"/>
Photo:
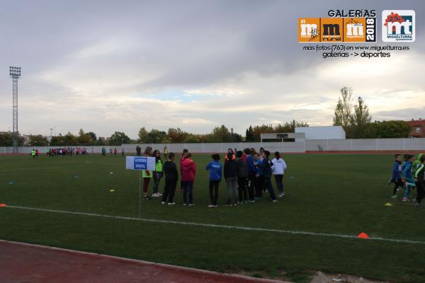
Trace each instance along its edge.
<path fill-rule="evenodd" d="M 392 156 L 288 155 L 285 197 L 208 209 L 209 156 L 196 155 L 193 207 L 142 202 L 142 217 L 425 242 L 425 208 L 390 198 Z M 113 174 L 111 174 L 113 172 Z M 290 178 L 292 176 L 293 178 Z M 13 182 L 13 184 L 9 184 Z M 274 184 L 274 183 L 273 183 Z M 164 180 L 162 180 L 162 186 Z M 152 185 L 151 185 L 152 187 Z M 115 192 L 109 192 L 114 189 Z M 276 186 L 275 186 L 276 189 Z M 152 189 L 149 188 L 152 192 Z M 413 192 L 416 194 L 416 192 Z M 137 171 L 122 156 L 0 156 L 0 203 L 137 217 Z M 390 202 L 392 207 L 385 207 Z M 243 231 L 0 208 L 0 238 L 255 277 L 309 282 L 323 272 L 425 282 L 425 245 Z"/>

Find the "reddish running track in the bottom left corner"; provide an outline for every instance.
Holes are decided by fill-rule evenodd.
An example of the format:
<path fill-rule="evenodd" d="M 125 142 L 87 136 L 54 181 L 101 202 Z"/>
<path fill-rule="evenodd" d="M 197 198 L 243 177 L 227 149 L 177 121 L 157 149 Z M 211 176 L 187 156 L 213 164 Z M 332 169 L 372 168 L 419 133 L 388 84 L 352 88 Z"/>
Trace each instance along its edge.
<path fill-rule="evenodd" d="M 7 283 L 277 283 L 154 262 L 0 240 L 0 282 Z"/>

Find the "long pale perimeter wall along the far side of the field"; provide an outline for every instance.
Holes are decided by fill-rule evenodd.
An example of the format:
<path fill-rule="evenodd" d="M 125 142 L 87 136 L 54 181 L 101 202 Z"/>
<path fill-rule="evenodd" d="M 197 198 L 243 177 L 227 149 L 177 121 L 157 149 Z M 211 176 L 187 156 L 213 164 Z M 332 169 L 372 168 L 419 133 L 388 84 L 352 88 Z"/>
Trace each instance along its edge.
<path fill-rule="evenodd" d="M 126 153 L 135 153 L 137 144 L 123 144 L 122 146 L 72 146 L 86 148 L 89 154 L 100 154 L 102 148 L 124 149 Z M 152 146 L 153 149 L 164 150 L 166 146 L 169 151 L 181 152 L 183 149 L 200 153 L 225 153 L 227 149 L 246 149 L 254 147 L 259 149 L 261 146 L 268 151 L 280 151 L 283 153 L 305 153 L 305 151 L 318 151 L 319 146 L 323 151 L 425 151 L 425 139 L 306 139 L 305 141 L 295 142 L 234 142 L 234 143 L 199 143 L 199 144 L 139 144 L 142 151 L 146 146 Z M 37 146 L 36 148 L 43 154 L 46 149 L 56 146 Z M 32 146 L 21 146 L 18 152 L 29 154 Z M 13 148 L 0 147 L 0 154 L 11 154 Z"/>

